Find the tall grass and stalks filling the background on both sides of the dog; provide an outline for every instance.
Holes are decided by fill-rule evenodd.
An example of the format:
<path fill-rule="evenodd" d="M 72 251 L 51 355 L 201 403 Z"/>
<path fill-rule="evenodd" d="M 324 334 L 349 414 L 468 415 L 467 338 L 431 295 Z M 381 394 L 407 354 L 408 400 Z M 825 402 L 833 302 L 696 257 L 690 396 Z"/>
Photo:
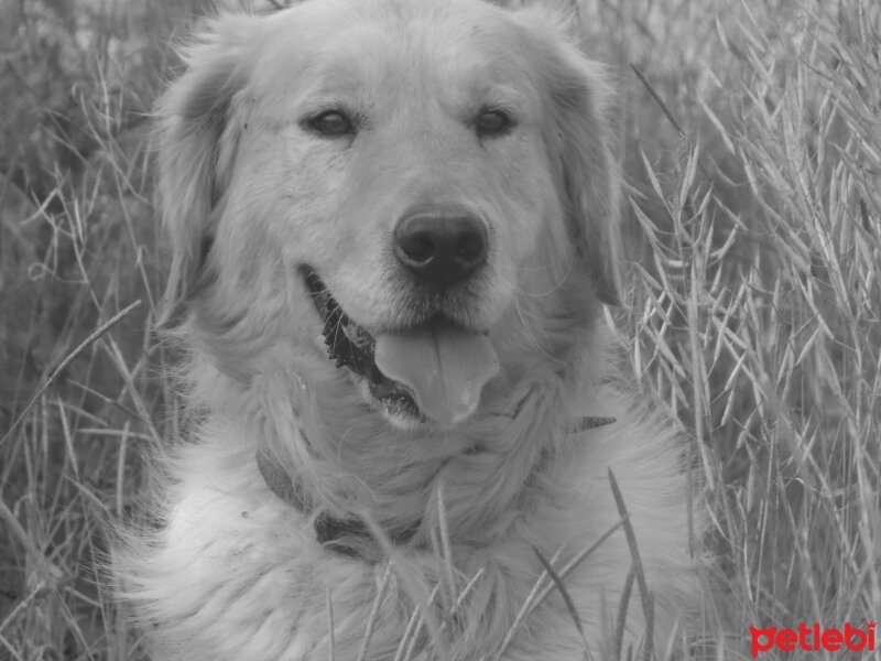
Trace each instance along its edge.
<path fill-rule="evenodd" d="M 175 427 L 146 138 L 202 4 L 0 0 L 0 659 L 142 655 L 102 589 L 104 525 Z M 579 10 L 621 89 L 616 321 L 639 388 L 695 438 L 694 506 L 713 512 L 690 649 L 749 658 L 749 626 L 864 626 L 881 614 L 881 3 Z"/>

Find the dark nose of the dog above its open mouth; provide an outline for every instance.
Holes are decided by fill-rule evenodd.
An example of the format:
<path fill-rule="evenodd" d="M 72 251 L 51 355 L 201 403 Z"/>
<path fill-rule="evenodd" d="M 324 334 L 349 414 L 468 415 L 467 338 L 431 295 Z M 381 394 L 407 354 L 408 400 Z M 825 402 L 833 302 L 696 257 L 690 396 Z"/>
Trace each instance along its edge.
<path fill-rule="evenodd" d="M 487 229 L 459 209 L 422 209 L 394 228 L 394 254 L 420 280 L 446 289 L 487 261 Z"/>

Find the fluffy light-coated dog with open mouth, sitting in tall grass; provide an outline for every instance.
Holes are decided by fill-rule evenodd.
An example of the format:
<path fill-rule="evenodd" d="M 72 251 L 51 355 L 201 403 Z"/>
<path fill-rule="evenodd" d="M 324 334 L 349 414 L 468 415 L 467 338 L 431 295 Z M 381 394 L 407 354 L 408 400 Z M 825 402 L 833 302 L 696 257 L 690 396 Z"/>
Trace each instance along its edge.
<path fill-rule="evenodd" d="M 605 307 L 611 86 L 524 4 L 305 0 L 184 52 L 157 169 L 188 431 L 113 565 L 153 658 L 683 638 L 701 517 Z"/>

